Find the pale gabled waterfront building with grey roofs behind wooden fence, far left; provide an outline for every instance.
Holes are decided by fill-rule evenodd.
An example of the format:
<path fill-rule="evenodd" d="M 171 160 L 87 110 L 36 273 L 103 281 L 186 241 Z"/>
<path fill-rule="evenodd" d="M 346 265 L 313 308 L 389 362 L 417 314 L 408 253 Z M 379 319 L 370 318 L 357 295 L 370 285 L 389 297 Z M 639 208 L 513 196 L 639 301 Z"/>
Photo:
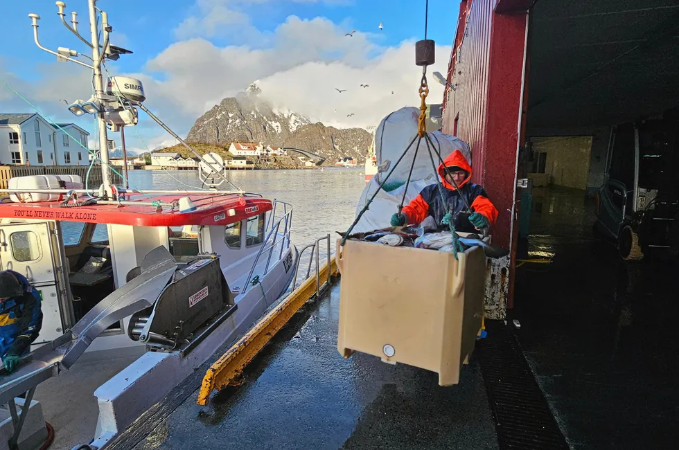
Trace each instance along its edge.
<path fill-rule="evenodd" d="M 85 148 L 64 143 L 64 132 L 48 123 L 39 114 L 0 114 L 0 163 L 26 165 L 77 165 L 87 161 L 87 136 L 89 133 L 77 125 L 59 124 L 62 128 L 85 142 Z M 69 136 L 66 136 L 69 137 Z M 67 152 L 67 153 L 64 153 Z M 80 154 L 80 161 L 78 160 Z"/>

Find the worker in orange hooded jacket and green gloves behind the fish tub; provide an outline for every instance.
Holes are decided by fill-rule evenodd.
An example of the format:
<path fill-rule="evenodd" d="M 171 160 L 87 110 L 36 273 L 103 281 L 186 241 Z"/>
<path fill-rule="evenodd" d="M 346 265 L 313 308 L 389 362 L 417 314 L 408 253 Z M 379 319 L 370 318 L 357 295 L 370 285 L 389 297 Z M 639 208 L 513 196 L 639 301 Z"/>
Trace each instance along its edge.
<path fill-rule="evenodd" d="M 448 174 L 446 174 L 446 169 L 448 169 Z M 488 199 L 486 190 L 482 186 L 469 182 L 472 177 L 472 168 L 462 152 L 455 150 L 449 154 L 443 160 L 443 164 L 439 165 L 438 172 L 441 177 L 445 204 L 441 201 L 439 184 L 431 184 L 425 187 L 408 206 L 404 206 L 400 214 L 396 213 L 391 216 L 392 226 L 419 224 L 427 215 L 430 215 L 436 224 L 443 228 L 443 216 L 447 213 L 452 214 L 456 231 L 474 232 L 495 223 L 497 209 Z M 456 184 L 459 192 L 455 188 Z M 460 196 L 463 196 L 472 208 L 471 215 L 464 213 L 466 206 Z"/>

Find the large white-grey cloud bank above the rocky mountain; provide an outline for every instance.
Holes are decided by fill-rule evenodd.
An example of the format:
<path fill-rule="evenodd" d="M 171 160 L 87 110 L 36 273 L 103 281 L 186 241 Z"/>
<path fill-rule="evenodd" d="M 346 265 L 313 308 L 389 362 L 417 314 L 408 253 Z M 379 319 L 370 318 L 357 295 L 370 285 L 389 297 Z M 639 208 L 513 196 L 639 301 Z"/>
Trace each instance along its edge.
<path fill-rule="evenodd" d="M 134 76 L 144 82 L 149 102 L 170 109 L 177 123 L 185 117 L 182 129 L 253 80 L 261 80 L 261 96 L 281 109 L 326 125 L 376 125 L 395 109 L 419 105 L 421 68 L 414 65 L 414 42 L 382 47 L 370 38 L 360 32 L 344 37 L 344 29 L 328 19 L 290 16 L 274 30 L 268 48 L 188 39 L 148 61 L 147 71 L 161 73 L 162 81 Z M 439 64 L 430 71 L 445 73 L 450 47 L 439 46 L 436 53 Z M 443 87 L 430 81 L 429 102 L 439 103 Z"/>

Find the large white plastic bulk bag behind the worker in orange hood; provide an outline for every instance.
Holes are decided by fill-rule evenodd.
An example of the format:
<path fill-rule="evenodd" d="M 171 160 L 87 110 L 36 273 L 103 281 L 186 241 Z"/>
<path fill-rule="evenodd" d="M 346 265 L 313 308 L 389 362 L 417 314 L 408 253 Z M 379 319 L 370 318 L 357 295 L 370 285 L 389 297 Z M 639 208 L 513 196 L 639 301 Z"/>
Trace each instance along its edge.
<path fill-rule="evenodd" d="M 380 184 L 385 179 L 391 166 L 398 161 L 398 158 L 403 154 L 406 147 L 417 134 L 417 119 L 420 116 L 420 110 L 416 107 L 404 107 L 389 114 L 389 116 L 382 119 L 380 126 L 375 133 L 375 151 L 378 163 L 378 173 L 366 185 L 363 193 L 356 206 L 356 215 L 364 208 L 368 199 L 370 199 L 375 192 L 378 191 Z M 427 125 L 429 129 L 430 125 Z M 432 127 L 435 127 L 432 122 Z M 471 162 L 471 154 L 468 143 L 462 141 L 454 136 L 443 134 L 439 131 L 430 132 L 432 141 L 436 145 L 436 149 L 441 153 L 441 159 L 460 150 L 464 154 L 467 161 Z M 403 199 L 403 191 L 405 190 L 405 182 L 408 179 L 408 172 L 413 162 L 413 156 L 417 141 L 412 145 L 409 152 L 405 155 L 403 160 L 396 166 L 394 173 L 389 176 L 387 184 L 390 186 L 400 187 L 386 192 L 380 190 L 375 199 L 370 204 L 369 209 L 363 214 L 360 221 L 353 228 L 351 233 L 362 233 L 365 231 L 372 231 L 378 228 L 385 228 L 390 226 L 391 215 L 398 212 L 398 205 Z M 434 162 L 438 167 L 438 157 L 433 154 Z M 424 139 L 420 143 L 413 174 L 405 195 L 404 205 L 409 204 L 412 199 L 417 197 L 425 186 L 436 183 L 438 174 L 432 168 L 432 161 L 427 151 L 427 145 Z"/>

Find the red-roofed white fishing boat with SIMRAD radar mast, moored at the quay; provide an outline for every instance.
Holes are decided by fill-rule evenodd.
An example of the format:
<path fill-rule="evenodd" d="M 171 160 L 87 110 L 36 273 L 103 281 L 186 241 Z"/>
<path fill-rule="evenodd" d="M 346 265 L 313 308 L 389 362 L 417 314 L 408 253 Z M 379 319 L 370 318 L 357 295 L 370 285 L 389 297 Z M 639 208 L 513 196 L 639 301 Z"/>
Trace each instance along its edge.
<path fill-rule="evenodd" d="M 17 370 L 0 372 L 0 403 L 11 412 L 0 432 L 11 436 L 10 448 L 21 443 L 19 435 L 33 443 L 44 440 L 44 419 L 31 417 L 42 415 L 33 395 L 39 384 L 64 370 L 71 376 L 64 389 L 73 390 L 67 398 L 89 402 L 96 397 L 98 420 L 86 442 L 106 447 L 275 305 L 290 286 L 298 260 L 290 242 L 292 206 L 222 188 L 228 180 L 218 154 L 199 155 L 205 189 L 139 190 L 109 182 L 107 129 L 136 124 L 136 108 L 193 149 L 143 105 L 141 81 L 111 77 L 105 89 L 100 63 L 127 51 L 109 45 L 106 13 L 96 8 L 96 0 L 88 3 L 94 64 L 76 61 L 93 71 L 96 93 L 69 109 L 97 116 L 103 184 L 91 189 L 74 176 L 19 177 L 10 179 L 2 190 L 9 196 L 0 201 L 1 267 L 28 278 L 42 296 L 44 315 L 39 336 Z M 75 13 L 69 26 L 64 3 L 57 6 L 64 25 L 85 41 Z M 39 16 L 30 17 L 35 42 L 46 50 L 38 42 Z M 58 55 L 73 60 L 74 53 L 59 48 Z M 139 358 L 94 392 L 83 392 L 80 357 L 112 361 L 130 354 Z M 82 373 L 82 380 L 92 375 Z M 22 394 L 25 400 L 16 398 Z M 77 426 L 86 419 L 78 415 L 91 415 L 90 410 L 69 408 L 69 423 Z M 39 426 L 29 429 L 35 423 Z M 57 432 L 75 435 L 69 429 Z M 21 448 L 32 448 L 26 440 Z"/>

